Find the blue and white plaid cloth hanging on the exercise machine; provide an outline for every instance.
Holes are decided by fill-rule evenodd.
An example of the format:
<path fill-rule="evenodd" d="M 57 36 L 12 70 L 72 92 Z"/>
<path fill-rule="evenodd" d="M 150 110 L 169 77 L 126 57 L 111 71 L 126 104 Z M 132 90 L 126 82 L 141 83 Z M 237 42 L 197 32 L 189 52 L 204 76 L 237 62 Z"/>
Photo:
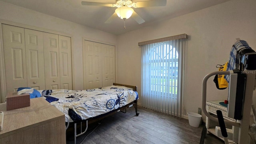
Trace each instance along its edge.
<path fill-rule="evenodd" d="M 252 49 L 245 40 L 238 40 L 232 46 L 227 66 L 227 71 L 234 70 L 238 68 L 239 60 L 238 60 L 238 53 L 240 50 L 244 48 Z M 224 78 L 229 83 L 229 75 L 225 75 Z"/>

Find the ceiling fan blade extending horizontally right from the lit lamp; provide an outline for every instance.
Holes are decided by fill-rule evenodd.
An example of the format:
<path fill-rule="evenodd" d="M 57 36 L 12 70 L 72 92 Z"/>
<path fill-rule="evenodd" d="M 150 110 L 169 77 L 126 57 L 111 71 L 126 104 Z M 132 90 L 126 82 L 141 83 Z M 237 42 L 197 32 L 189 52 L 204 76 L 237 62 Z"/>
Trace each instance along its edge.
<path fill-rule="evenodd" d="M 133 3 L 134 8 L 143 8 L 151 6 L 166 6 L 166 0 L 147 0 Z"/>

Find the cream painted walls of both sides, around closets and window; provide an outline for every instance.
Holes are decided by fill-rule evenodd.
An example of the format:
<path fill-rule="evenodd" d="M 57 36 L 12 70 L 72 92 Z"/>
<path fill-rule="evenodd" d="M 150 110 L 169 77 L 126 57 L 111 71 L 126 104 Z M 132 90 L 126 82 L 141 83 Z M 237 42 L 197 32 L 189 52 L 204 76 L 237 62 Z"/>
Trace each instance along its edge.
<path fill-rule="evenodd" d="M 255 7 L 255 0 L 230 0 L 119 36 L 2 1 L 0 19 L 70 34 L 76 90 L 83 89 L 82 38 L 116 45 L 116 82 L 137 85 L 140 93 L 141 48 L 138 42 L 188 34 L 183 98 L 186 115 L 186 112 L 197 112 L 197 108 L 201 107 L 202 79 L 206 74 L 217 70 L 216 64 L 228 61 L 236 38 L 246 40 L 256 50 Z M 228 91 L 217 90 L 212 79 L 208 80 L 208 100 L 225 99 Z"/>

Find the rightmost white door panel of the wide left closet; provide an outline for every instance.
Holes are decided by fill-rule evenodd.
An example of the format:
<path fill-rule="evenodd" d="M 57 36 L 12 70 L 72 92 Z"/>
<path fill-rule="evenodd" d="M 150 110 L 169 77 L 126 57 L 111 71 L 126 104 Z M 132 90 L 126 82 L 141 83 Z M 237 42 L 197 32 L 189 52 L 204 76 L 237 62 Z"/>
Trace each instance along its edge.
<path fill-rule="evenodd" d="M 72 90 L 71 38 L 59 35 L 60 89 Z"/>

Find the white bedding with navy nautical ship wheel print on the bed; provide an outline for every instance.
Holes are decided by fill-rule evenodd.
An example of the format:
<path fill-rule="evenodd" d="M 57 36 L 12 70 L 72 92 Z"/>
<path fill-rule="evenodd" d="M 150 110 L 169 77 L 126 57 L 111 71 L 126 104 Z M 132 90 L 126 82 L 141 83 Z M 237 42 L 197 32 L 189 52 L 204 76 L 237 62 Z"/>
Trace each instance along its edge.
<path fill-rule="evenodd" d="M 78 122 L 99 116 L 138 99 L 135 90 L 124 86 L 89 90 L 38 90 L 38 92 L 65 114 L 66 122 Z"/>

